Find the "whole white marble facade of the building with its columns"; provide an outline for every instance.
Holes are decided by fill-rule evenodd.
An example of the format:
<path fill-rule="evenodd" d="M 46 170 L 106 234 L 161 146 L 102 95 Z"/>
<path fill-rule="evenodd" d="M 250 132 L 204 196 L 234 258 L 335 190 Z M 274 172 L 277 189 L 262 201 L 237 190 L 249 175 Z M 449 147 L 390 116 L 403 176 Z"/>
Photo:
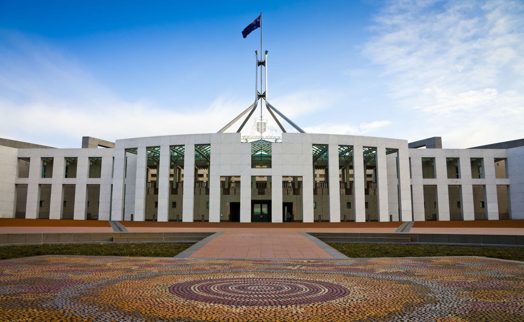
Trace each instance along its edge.
<path fill-rule="evenodd" d="M 211 145 L 209 221 L 220 221 L 220 177 L 241 177 L 242 222 L 251 218 L 251 176 L 271 176 L 272 186 L 281 186 L 282 176 L 302 176 L 303 221 L 313 221 L 312 145 L 328 145 L 329 153 L 329 218 L 341 218 L 339 186 L 339 146 L 353 146 L 355 221 L 365 221 L 366 177 L 363 147 L 377 149 L 377 204 L 379 221 L 425 220 L 423 185 L 435 185 L 439 220 L 450 220 L 447 185 L 461 185 L 463 219 L 473 220 L 472 185 L 485 185 L 488 219 L 498 219 L 497 185 L 508 185 L 512 218 L 524 218 L 524 148 L 515 149 L 408 149 L 408 141 L 328 134 L 283 133 L 281 143 L 272 143 L 270 169 L 252 169 L 250 143 L 241 142 L 239 133 L 173 135 L 117 140 L 114 149 L 12 149 L 0 147 L 0 215 L 14 217 L 15 184 L 27 184 L 26 218 L 37 218 L 39 185 L 51 184 L 50 218 L 59 219 L 62 184 L 75 184 L 74 219 L 85 219 L 86 185 L 100 184 L 99 220 L 145 219 L 146 151 L 160 147 L 158 169 L 158 221 L 168 220 L 169 149 L 185 146 L 188 156 L 195 145 Z M 126 152 L 136 149 L 137 154 Z M 386 154 L 386 150 L 395 153 Z M 193 151 L 193 152 L 192 152 Z M 127 156 L 127 158 L 126 158 Z M 53 157 L 52 178 L 41 177 L 41 158 Z M 64 178 L 64 157 L 78 158 L 76 178 Z M 102 158 L 101 178 L 89 178 L 89 157 Z M 17 158 L 30 158 L 28 178 L 17 177 Z M 422 158 L 435 159 L 435 178 L 422 178 Z M 459 158 L 461 176 L 448 179 L 446 158 Z M 484 179 L 472 179 L 470 158 L 483 158 Z M 494 158 L 507 159 L 507 179 L 496 179 Z M 466 162 L 464 162 L 464 161 Z M 127 161 L 127 164 L 126 164 Z M 184 169 L 194 166 L 194 158 L 184 158 Z M 127 173 L 124 173 L 126 171 Z M 194 172 L 184 172 L 182 220 L 193 220 Z M 272 190 L 274 214 L 282 213 L 282 194 Z M 274 222 L 281 216 L 272 216 Z"/>

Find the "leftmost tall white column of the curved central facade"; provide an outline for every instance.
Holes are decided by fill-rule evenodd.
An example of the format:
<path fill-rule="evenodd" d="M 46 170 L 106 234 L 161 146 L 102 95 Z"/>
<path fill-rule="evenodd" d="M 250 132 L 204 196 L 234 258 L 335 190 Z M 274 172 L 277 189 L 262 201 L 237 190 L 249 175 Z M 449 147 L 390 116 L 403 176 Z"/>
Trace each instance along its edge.
<path fill-rule="evenodd" d="M 118 145 L 116 141 L 116 145 Z M 113 196 L 111 199 L 111 220 L 124 220 L 124 188 L 125 188 L 125 169 L 126 169 L 126 150 L 115 149 L 115 161 L 113 164 Z M 102 159 L 102 163 L 103 163 Z M 102 190 L 102 187 L 100 187 Z M 100 215 L 99 215 L 100 216 Z"/>

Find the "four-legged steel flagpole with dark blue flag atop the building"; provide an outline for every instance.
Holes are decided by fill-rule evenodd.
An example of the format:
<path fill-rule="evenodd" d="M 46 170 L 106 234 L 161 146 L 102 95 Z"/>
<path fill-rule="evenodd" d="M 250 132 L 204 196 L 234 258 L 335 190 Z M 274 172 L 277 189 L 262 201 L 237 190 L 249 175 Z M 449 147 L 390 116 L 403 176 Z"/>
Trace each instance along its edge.
<path fill-rule="evenodd" d="M 257 23 L 259 24 L 257 26 Z M 236 131 L 237 133 L 241 132 L 242 129 L 244 128 L 244 126 L 246 125 L 248 119 L 253 115 L 253 113 L 255 112 L 255 110 L 257 109 L 258 107 L 258 101 L 264 99 L 265 101 L 265 105 L 266 105 L 266 108 L 269 112 L 269 114 L 271 115 L 271 117 L 276 121 L 278 127 L 282 130 L 282 132 L 286 133 L 286 129 L 282 126 L 282 124 L 280 123 L 280 121 L 278 120 L 277 116 L 275 115 L 278 114 L 281 118 L 283 118 L 284 120 L 286 120 L 286 122 L 291 125 L 294 129 L 296 129 L 297 131 L 299 131 L 300 133 L 305 133 L 305 131 L 303 129 L 301 129 L 298 125 L 294 124 L 293 121 L 291 121 L 288 117 L 286 117 L 285 115 L 283 115 L 278 109 L 276 109 L 273 105 L 271 105 L 269 103 L 269 99 L 268 99 L 268 82 L 267 82 L 267 53 L 268 51 L 266 50 L 265 51 L 265 56 L 264 56 L 264 59 L 263 59 L 263 52 L 262 52 L 262 13 L 260 13 L 260 16 L 255 19 L 255 21 L 253 21 L 252 24 L 248 25 L 244 31 L 242 32 L 242 35 L 244 36 L 244 38 L 246 38 L 247 35 L 249 35 L 249 33 L 253 30 L 255 30 L 256 28 L 260 27 L 260 59 L 258 59 L 258 51 L 255 50 L 255 55 L 256 55 L 256 67 L 255 67 L 255 102 L 253 104 L 251 104 L 248 108 L 246 108 L 244 110 L 244 112 L 242 112 L 241 114 L 239 114 L 237 117 L 235 117 L 233 120 L 231 120 L 230 123 L 228 123 L 226 126 L 224 126 L 222 129 L 220 129 L 220 131 L 218 131 L 217 133 L 223 133 L 224 131 L 226 131 L 228 128 L 230 128 L 233 124 L 236 123 L 236 121 L 238 121 L 239 119 L 241 119 L 244 115 L 247 114 L 247 117 L 244 119 L 244 121 L 242 122 L 242 125 L 238 128 L 238 130 Z M 260 91 L 258 91 L 258 66 L 260 66 L 260 91 L 262 91 L 262 67 L 261 66 L 264 66 L 264 69 L 265 69 L 265 75 L 264 75 L 264 80 L 265 80 L 265 88 L 264 88 L 264 92 L 263 93 L 260 93 Z M 262 104 L 262 102 L 260 102 L 260 104 Z M 262 116 L 262 106 L 264 105 L 261 105 L 260 106 L 260 117 Z M 275 113 L 274 113 L 275 112 Z"/>

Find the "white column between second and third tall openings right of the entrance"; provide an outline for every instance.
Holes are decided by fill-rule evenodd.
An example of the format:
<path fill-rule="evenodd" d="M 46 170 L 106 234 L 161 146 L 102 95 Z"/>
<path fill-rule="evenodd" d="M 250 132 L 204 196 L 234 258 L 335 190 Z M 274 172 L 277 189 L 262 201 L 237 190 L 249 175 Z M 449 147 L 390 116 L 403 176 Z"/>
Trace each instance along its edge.
<path fill-rule="evenodd" d="M 362 145 L 353 146 L 353 196 L 355 198 L 355 221 L 366 221 L 366 177 L 364 176 L 364 152 Z M 339 206 L 340 207 L 340 206 Z"/>

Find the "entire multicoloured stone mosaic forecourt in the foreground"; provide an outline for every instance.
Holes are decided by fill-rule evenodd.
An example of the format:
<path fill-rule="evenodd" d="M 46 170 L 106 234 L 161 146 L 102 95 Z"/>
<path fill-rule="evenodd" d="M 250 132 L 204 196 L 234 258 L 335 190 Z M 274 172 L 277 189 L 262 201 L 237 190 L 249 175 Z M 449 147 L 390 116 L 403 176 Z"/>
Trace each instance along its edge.
<path fill-rule="evenodd" d="M 0 261 L 0 321 L 524 321 L 524 264 L 483 258 Z"/>

